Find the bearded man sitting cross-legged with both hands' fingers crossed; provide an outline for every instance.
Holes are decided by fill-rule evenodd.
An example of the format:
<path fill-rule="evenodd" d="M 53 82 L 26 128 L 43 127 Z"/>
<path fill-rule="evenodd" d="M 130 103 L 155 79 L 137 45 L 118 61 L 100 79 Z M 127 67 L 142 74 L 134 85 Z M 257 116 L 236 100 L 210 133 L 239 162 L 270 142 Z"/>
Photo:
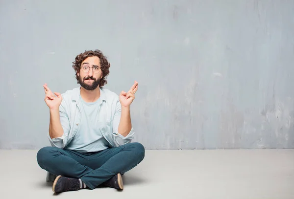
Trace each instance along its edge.
<path fill-rule="evenodd" d="M 106 88 L 110 64 L 99 50 L 76 56 L 73 68 L 80 87 L 63 94 L 45 84 L 50 147 L 37 153 L 39 166 L 57 176 L 52 191 L 61 193 L 98 185 L 123 189 L 122 176 L 145 157 L 134 130 L 130 105 L 138 82 L 118 96 Z"/>

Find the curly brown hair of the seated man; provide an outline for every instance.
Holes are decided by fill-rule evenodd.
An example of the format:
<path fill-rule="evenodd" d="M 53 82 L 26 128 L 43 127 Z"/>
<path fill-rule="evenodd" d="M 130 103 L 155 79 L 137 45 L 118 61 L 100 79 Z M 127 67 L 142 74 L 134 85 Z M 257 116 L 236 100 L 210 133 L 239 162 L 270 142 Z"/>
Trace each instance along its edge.
<path fill-rule="evenodd" d="M 110 63 L 107 61 L 107 57 L 103 55 L 103 53 L 100 50 L 88 50 L 85 51 L 75 57 L 75 61 L 73 62 L 73 69 L 75 70 L 75 78 L 78 83 L 78 75 L 77 72 L 80 71 L 80 66 L 82 62 L 87 59 L 88 57 L 97 56 L 100 59 L 100 65 L 101 65 L 101 71 L 102 71 L 102 78 L 100 80 L 99 87 L 103 87 L 105 84 L 107 84 L 107 76 L 109 74 L 109 67 Z"/>

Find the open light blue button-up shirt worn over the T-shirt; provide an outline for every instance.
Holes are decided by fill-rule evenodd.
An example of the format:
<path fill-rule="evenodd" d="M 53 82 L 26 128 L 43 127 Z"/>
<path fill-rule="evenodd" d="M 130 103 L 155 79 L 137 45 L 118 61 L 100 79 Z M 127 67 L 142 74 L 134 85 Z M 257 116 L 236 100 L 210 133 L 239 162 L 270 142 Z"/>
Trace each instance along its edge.
<path fill-rule="evenodd" d="M 65 148 L 79 130 L 81 122 L 80 87 L 73 88 L 62 94 L 62 102 L 59 106 L 60 122 L 63 135 L 51 139 L 51 146 Z M 100 88 L 100 109 L 97 121 L 97 130 L 107 140 L 110 147 L 118 147 L 131 142 L 134 138 L 134 130 L 131 129 L 127 136 L 118 132 L 122 107 L 119 96 L 107 88 Z"/>

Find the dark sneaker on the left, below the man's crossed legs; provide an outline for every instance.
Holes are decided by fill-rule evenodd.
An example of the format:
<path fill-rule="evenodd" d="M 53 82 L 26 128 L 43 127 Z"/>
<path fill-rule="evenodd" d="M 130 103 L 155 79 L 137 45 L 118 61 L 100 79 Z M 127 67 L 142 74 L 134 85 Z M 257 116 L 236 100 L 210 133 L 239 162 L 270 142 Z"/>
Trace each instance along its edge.
<path fill-rule="evenodd" d="M 79 188 L 79 179 L 57 176 L 53 182 L 52 191 L 55 193 L 61 193 L 65 191 L 77 191 Z"/>

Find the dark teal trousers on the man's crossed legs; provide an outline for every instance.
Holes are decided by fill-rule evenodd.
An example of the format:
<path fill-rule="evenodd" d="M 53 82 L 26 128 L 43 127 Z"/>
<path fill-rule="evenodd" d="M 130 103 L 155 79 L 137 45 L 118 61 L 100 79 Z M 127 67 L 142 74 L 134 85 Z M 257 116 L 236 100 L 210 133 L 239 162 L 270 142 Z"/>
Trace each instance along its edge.
<path fill-rule="evenodd" d="M 118 173 L 124 174 L 145 157 L 140 143 L 128 143 L 97 153 L 78 153 L 57 147 L 44 147 L 37 153 L 39 166 L 51 174 L 80 178 L 95 189 Z"/>

